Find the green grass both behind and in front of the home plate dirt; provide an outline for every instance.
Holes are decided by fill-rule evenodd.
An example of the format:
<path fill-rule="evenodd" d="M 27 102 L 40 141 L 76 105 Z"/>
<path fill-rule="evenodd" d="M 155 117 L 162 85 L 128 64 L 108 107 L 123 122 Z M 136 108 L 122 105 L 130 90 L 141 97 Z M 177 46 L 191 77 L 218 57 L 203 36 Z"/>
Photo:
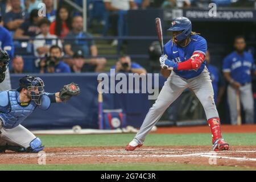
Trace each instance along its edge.
<path fill-rule="evenodd" d="M 102 135 L 40 135 L 44 145 L 51 147 L 124 147 L 134 134 Z M 256 146 L 255 133 L 224 133 L 230 146 Z M 209 134 L 150 134 L 144 146 L 211 146 Z M 243 150 L 243 148 L 241 148 Z M 103 151 L 104 152 L 104 151 Z M 1 156 L 1 155 L 0 155 Z M 1 158 L 0 158 L 1 160 Z M 2 170 L 247 170 L 256 168 L 205 166 L 181 163 L 98 163 L 98 164 L 0 164 Z"/>

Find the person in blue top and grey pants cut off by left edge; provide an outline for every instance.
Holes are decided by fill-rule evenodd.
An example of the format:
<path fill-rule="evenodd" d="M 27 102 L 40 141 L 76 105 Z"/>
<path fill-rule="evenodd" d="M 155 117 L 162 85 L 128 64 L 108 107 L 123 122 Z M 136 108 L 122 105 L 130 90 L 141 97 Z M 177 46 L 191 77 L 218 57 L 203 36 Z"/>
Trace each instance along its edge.
<path fill-rule="evenodd" d="M 0 49 L 6 51 L 10 57 L 13 58 L 14 55 L 14 45 L 13 45 L 13 38 L 11 38 L 10 32 L 1 26 L 2 17 L 0 14 Z M 11 81 L 10 81 L 10 74 L 9 69 L 7 68 L 5 72 L 5 80 L 0 84 L 0 91 L 3 90 L 10 90 L 11 89 Z"/>

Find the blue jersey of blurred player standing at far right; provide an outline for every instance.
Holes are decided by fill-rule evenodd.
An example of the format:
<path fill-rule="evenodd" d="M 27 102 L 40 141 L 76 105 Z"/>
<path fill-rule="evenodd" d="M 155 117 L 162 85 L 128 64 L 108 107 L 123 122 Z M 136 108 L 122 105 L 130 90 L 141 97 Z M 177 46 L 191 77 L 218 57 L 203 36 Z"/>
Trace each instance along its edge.
<path fill-rule="evenodd" d="M 223 72 L 230 72 L 233 80 L 240 84 L 251 82 L 251 71 L 255 71 L 253 55 L 249 52 L 243 52 L 238 55 L 236 51 L 230 53 L 223 61 Z"/>

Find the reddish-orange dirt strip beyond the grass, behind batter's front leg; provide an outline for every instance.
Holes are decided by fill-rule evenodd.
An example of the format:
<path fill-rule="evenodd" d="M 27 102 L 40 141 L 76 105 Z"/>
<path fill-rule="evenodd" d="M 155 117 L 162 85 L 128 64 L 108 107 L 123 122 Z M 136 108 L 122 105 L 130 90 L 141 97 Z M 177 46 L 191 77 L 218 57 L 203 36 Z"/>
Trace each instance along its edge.
<path fill-rule="evenodd" d="M 256 133 L 256 125 L 221 125 L 224 133 Z M 154 133 L 158 134 L 185 134 L 185 133 L 209 133 L 208 125 L 205 126 L 189 126 L 189 127 L 159 127 Z"/>

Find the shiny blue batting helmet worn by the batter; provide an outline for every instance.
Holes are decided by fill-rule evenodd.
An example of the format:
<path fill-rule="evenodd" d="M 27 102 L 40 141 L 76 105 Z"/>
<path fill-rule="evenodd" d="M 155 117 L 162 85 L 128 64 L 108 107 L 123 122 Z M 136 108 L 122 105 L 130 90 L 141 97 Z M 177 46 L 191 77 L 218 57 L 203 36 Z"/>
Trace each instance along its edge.
<path fill-rule="evenodd" d="M 191 35 L 192 23 L 188 18 L 184 16 L 175 18 L 171 23 L 171 27 L 168 29 L 168 31 L 181 31 L 181 30 L 183 30 L 183 32 L 181 32 L 179 35 L 176 36 L 177 41 L 184 40 L 189 35 Z"/>

